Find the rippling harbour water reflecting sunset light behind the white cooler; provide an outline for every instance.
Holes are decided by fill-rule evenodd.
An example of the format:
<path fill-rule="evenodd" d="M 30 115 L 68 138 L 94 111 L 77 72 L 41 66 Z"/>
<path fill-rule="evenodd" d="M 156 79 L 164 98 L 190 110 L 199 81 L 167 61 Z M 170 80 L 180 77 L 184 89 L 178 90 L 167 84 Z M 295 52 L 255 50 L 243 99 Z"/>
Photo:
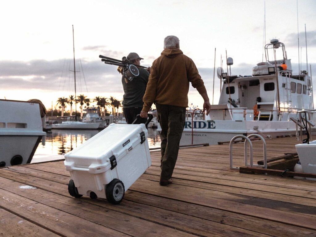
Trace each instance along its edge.
<path fill-rule="evenodd" d="M 62 155 L 78 147 L 101 130 L 57 130 L 52 129 L 42 138 L 36 155 Z M 160 136 L 156 129 L 148 130 L 148 143 L 150 148 L 160 147 Z"/>

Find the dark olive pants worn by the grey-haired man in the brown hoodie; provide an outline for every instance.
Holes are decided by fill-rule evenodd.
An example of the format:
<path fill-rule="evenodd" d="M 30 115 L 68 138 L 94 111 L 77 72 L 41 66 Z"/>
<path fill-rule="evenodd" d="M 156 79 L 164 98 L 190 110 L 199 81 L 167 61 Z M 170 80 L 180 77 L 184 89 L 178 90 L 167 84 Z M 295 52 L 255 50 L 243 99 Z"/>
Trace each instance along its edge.
<path fill-rule="evenodd" d="M 156 104 L 161 126 L 160 180 L 170 179 L 179 152 L 179 143 L 185 125 L 185 107 Z"/>

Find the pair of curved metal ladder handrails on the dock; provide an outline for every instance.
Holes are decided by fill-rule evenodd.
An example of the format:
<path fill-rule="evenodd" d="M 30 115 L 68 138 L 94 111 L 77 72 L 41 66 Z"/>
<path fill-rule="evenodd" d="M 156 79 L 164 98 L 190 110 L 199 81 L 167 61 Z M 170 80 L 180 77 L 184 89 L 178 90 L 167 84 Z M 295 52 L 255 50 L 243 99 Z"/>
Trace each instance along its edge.
<path fill-rule="evenodd" d="M 252 149 L 252 142 L 250 140 L 250 137 L 258 137 L 260 138 L 260 140 L 262 140 L 263 142 L 263 161 L 264 161 L 264 165 L 257 165 L 257 164 L 253 164 L 253 149 Z M 263 167 L 263 168 L 267 168 L 267 144 L 264 140 L 264 138 L 259 135 L 259 134 L 250 134 L 247 137 L 244 135 L 237 135 L 235 137 L 232 138 L 232 140 L 229 143 L 229 167 L 231 169 L 237 169 L 239 170 L 239 167 L 233 167 L 233 144 L 234 141 L 237 138 L 243 138 L 245 139 L 244 142 L 244 158 L 245 158 L 245 166 L 250 166 L 250 167 Z M 249 156 L 250 156 L 250 163 L 248 163 L 248 152 L 247 152 L 247 144 L 249 143 L 249 147 L 250 147 L 250 151 L 249 151 Z"/>

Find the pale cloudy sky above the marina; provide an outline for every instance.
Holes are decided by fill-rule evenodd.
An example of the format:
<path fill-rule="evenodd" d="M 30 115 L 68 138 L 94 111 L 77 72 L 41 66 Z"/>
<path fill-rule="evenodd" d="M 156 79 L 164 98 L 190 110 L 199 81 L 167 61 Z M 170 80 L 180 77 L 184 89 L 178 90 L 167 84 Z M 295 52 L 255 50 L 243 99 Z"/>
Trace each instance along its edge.
<path fill-rule="evenodd" d="M 164 37 L 176 35 L 180 49 L 197 65 L 212 98 L 215 48 L 216 69 L 222 55 L 226 70 L 227 50 L 228 57 L 234 59 L 231 70 L 235 75 L 251 75 L 252 67 L 262 61 L 264 3 L 265 41 L 279 39 L 285 44 L 294 73 L 299 59 L 306 70 L 306 24 L 308 68 L 311 64 L 315 77 L 315 0 L 298 0 L 298 8 L 296 0 L 2 2 L 0 99 L 36 98 L 50 108 L 52 102 L 56 106 L 58 97 L 74 94 L 72 25 L 76 70 L 80 71 L 76 74 L 77 95 L 122 100 L 116 66 L 102 63 L 98 56 L 120 59 L 137 52 L 144 58 L 141 64 L 149 66 L 160 56 Z M 215 104 L 219 83 L 215 74 Z M 315 80 L 313 83 L 316 85 Z M 189 103 L 202 106 L 194 88 L 190 89 Z"/>

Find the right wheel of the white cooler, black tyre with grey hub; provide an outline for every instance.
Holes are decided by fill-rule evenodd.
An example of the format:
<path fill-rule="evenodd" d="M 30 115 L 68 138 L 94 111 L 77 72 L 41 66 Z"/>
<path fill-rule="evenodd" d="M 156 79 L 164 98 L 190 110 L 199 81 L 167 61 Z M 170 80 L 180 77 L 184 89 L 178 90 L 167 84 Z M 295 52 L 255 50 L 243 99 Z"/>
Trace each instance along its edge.
<path fill-rule="evenodd" d="M 121 180 L 113 179 L 106 185 L 105 196 L 108 202 L 112 204 L 119 204 L 124 197 L 125 187 Z"/>

